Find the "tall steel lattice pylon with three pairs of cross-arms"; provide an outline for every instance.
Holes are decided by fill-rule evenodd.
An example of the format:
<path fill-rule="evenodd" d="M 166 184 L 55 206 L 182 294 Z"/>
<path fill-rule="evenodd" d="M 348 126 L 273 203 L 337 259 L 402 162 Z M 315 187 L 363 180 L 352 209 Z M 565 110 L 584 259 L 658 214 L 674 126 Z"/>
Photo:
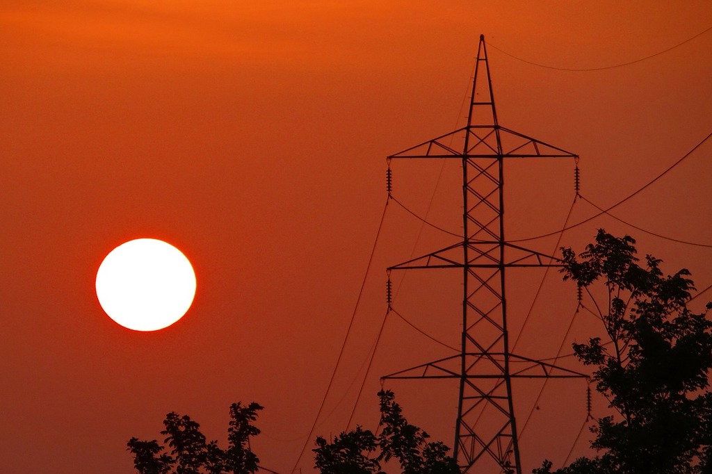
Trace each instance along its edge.
<path fill-rule="evenodd" d="M 484 467 L 489 460 L 500 471 L 521 474 L 513 379 L 582 376 L 510 352 L 505 291 L 508 268 L 559 265 L 553 257 L 505 240 L 504 160 L 576 156 L 499 125 L 484 37 L 480 36 L 467 125 L 388 157 L 462 160 L 462 241 L 388 268 L 462 271 L 460 354 L 383 379 L 459 380 L 453 454 L 463 472 L 478 463 Z M 476 429 L 485 411 L 487 426 Z"/>

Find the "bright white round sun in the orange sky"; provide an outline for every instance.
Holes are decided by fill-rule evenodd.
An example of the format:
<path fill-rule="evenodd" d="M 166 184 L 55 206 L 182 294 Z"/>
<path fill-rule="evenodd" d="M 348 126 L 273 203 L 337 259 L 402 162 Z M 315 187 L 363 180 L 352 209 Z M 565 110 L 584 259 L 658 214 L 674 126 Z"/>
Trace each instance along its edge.
<path fill-rule="evenodd" d="M 186 256 L 155 238 L 122 243 L 96 273 L 103 310 L 135 331 L 156 331 L 179 320 L 192 305 L 195 288 L 195 272 Z"/>

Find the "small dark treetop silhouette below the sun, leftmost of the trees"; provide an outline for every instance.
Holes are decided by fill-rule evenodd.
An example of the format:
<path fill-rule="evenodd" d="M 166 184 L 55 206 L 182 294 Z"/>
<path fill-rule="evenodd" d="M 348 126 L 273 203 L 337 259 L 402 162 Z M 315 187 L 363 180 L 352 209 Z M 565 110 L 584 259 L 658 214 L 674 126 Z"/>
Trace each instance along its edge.
<path fill-rule="evenodd" d="M 263 407 L 240 402 L 230 406 L 228 448 L 222 450 L 217 441 L 206 443 L 200 425 L 189 416 L 175 412 L 166 415 L 163 421 L 167 436 L 164 440 L 171 453 L 162 453 L 164 446 L 157 440 L 140 441 L 131 438 L 128 451 L 134 456 L 134 468 L 140 474 L 223 474 L 255 473 L 259 459 L 250 449 L 250 436 L 257 436 L 259 428 L 253 426 L 257 412 Z"/>

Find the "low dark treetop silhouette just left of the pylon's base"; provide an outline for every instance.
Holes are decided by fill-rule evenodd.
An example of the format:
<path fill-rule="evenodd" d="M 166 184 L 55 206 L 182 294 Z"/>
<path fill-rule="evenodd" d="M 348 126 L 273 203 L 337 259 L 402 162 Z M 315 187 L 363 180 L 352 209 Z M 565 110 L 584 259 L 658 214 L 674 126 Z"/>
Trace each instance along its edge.
<path fill-rule="evenodd" d="M 381 463 L 398 461 L 404 474 L 456 474 L 456 460 L 443 443 L 429 442 L 428 433 L 408 423 L 392 391 L 379 391 L 378 436 L 357 426 L 335 436 L 332 443 L 316 439 L 315 468 L 322 474 L 380 473 Z M 374 455 L 376 451 L 380 451 Z"/>

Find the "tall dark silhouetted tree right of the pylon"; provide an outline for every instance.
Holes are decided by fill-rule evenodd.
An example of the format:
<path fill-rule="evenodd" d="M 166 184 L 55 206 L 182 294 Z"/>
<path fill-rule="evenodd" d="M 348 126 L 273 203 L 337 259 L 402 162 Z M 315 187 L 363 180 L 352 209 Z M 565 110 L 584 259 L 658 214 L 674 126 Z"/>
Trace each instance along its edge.
<path fill-rule="evenodd" d="M 592 447 L 559 474 L 712 472 L 712 322 L 688 309 L 686 269 L 665 276 L 661 260 L 639 264 L 635 241 L 598 231 L 577 256 L 562 248 L 564 280 L 590 298 L 607 341 L 573 344 L 614 415 L 597 420 Z M 706 305 L 706 310 L 712 304 Z M 550 473 L 545 461 L 534 473 Z"/>

